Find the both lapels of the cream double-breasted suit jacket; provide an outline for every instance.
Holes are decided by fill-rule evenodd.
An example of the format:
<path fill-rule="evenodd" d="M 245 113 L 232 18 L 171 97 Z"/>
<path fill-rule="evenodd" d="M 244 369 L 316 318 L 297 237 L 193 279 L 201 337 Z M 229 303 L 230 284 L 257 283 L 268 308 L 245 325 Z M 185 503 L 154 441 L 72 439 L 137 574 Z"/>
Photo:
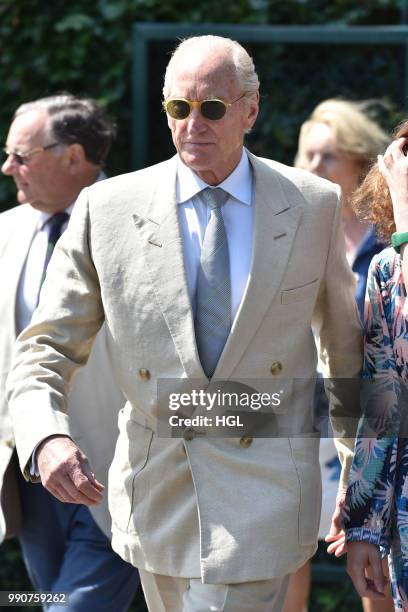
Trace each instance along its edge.
<path fill-rule="evenodd" d="M 278 291 L 304 199 L 276 170 L 249 154 L 255 181 L 251 272 L 230 336 L 214 373 L 227 379 L 242 358 Z M 195 341 L 176 203 L 176 158 L 166 164 L 143 216 L 133 215 L 158 304 L 189 378 L 205 378 Z M 285 184 L 286 183 L 286 184 Z M 171 189 L 169 192 L 169 185 Z"/>

